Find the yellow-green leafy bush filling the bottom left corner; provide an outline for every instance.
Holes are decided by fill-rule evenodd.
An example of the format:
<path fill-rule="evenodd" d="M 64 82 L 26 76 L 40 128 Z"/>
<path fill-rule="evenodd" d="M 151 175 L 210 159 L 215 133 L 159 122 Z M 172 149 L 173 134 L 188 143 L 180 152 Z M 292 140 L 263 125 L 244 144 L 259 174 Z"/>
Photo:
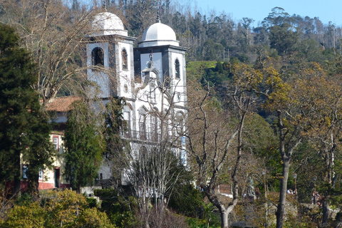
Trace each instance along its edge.
<path fill-rule="evenodd" d="M 107 214 L 71 190 L 42 192 L 37 202 L 16 205 L 7 216 L 1 227 L 115 227 Z"/>

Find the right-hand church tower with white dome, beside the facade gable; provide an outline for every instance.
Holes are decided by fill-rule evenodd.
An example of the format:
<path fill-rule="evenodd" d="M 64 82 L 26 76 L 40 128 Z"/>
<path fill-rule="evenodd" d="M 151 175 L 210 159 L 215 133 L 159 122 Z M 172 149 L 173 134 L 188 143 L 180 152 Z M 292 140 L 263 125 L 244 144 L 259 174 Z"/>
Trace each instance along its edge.
<path fill-rule="evenodd" d="M 179 115 L 187 113 L 186 51 L 187 48 L 180 47 L 175 31 L 159 19 L 145 30 L 138 48 L 134 49 L 135 82 L 146 81 L 145 76 L 152 63 L 153 70 L 157 72 L 155 80 L 160 93 L 167 91 L 165 95 L 173 97 L 172 104 L 167 105 L 172 105 L 175 108 L 173 111 Z M 158 102 L 155 107 L 164 110 Z"/>

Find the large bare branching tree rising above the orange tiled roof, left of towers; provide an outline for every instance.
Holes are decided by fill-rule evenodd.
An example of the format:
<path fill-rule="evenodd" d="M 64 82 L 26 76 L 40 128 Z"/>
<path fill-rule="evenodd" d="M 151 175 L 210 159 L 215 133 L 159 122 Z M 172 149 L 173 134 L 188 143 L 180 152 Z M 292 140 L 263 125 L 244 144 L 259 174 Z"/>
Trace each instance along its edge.
<path fill-rule="evenodd" d="M 96 10 L 71 9 L 61 0 L 0 1 L 0 21 L 14 26 L 36 61 L 35 89 L 43 103 L 58 92 L 82 90 L 84 47 Z"/>

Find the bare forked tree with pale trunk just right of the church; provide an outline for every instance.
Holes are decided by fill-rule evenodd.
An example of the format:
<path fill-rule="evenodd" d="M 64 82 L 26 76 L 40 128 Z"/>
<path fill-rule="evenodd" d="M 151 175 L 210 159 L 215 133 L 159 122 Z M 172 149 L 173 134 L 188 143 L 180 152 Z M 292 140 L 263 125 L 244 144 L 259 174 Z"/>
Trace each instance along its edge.
<path fill-rule="evenodd" d="M 239 198 L 238 171 L 242 158 L 244 121 L 256 101 L 254 89 L 260 81 L 260 71 L 246 65 L 233 68 L 234 83 L 229 88 L 230 109 L 222 110 L 215 100 L 210 99 L 211 88 L 199 92 L 192 90 L 189 113 L 188 150 L 197 163 L 197 184 L 209 201 L 221 214 L 221 227 L 229 227 L 229 214 L 237 205 Z M 199 98 L 199 101 L 197 101 Z M 191 102 L 192 100 L 192 102 Z M 234 158 L 231 154 L 235 152 Z M 231 178 L 233 199 L 226 206 L 214 193 L 219 175 L 224 172 L 227 159 L 232 159 Z"/>

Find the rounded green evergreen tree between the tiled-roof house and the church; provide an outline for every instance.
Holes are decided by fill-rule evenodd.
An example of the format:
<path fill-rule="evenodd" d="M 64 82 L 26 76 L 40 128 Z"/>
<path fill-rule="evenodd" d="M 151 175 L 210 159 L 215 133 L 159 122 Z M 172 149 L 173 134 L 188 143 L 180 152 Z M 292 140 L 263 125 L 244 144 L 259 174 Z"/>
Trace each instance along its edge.
<path fill-rule="evenodd" d="M 81 187 L 93 184 L 102 160 L 103 138 L 94 114 L 86 103 L 73 103 L 63 137 L 66 147 L 64 175 L 78 193 Z"/>

